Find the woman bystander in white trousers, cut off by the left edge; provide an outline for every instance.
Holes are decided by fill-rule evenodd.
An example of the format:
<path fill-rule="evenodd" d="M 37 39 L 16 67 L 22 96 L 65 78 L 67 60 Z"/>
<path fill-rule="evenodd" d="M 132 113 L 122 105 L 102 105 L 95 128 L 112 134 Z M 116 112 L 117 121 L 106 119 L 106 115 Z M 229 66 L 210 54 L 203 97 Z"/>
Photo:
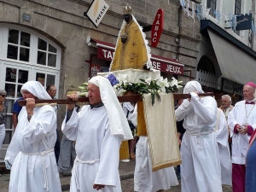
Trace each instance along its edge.
<path fill-rule="evenodd" d="M 6 91 L 0 90 L 0 152 L 3 144 L 3 140 L 5 137 L 5 118 L 7 113 L 7 107 L 4 104 L 6 97 Z M 0 174 L 1 177 L 1 174 Z"/>

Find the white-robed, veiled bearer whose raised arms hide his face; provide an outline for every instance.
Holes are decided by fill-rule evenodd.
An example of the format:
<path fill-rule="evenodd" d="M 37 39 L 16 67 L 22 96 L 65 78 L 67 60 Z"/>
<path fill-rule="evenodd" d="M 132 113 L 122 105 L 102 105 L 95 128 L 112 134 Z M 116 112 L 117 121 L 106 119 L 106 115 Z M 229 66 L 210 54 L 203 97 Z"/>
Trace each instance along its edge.
<path fill-rule="evenodd" d="M 176 120 L 184 119 L 186 129 L 181 144 L 181 189 L 183 192 L 220 192 L 218 144 L 214 134 L 217 103 L 212 96 L 200 98 L 201 84 L 189 81 L 183 90 L 191 99 L 184 99 L 176 109 Z"/>

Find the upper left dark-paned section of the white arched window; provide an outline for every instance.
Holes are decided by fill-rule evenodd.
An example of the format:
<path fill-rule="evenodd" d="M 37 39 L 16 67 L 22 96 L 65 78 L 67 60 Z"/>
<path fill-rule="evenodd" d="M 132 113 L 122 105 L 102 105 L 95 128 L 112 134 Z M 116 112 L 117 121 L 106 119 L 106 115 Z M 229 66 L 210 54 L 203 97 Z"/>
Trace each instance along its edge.
<path fill-rule="evenodd" d="M 7 58 L 29 62 L 30 34 L 9 29 Z"/>

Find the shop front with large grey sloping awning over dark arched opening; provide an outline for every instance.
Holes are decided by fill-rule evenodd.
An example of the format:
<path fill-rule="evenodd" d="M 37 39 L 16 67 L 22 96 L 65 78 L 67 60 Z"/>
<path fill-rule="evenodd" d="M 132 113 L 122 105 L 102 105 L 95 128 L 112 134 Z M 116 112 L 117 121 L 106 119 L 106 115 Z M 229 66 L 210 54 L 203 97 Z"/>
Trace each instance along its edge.
<path fill-rule="evenodd" d="M 243 84 L 256 82 L 256 52 L 211 20 L 201 20 L 201 43 L 196 79 L 221 96 L 229 94 L 233 104 L 241 101 Z"/>

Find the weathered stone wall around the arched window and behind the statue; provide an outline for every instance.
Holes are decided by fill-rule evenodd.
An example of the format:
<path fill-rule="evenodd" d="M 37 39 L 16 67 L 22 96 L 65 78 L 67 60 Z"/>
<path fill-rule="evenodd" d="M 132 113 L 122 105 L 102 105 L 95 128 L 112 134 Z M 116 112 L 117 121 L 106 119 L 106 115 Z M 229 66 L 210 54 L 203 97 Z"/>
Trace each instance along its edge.
<path fill-rule="evenodd" d="M 164 32 L 157 48 L 152 54 L 177 59 L 191 70 L 195 78 L 198 44 L 200 42 L 200 24 L 184 15 L 179 1 L 167 0 L 106 0 L 110 8 L 102 23 L 96 28 L 86 17 L 91 0 L 0 0 L 0 22 L 13 23 L 29 27 L 59 44 L 61 53 L 61 79 L 59 96 L 63 98 L 67 91 L 75 90 L 87 81 L 90 54 L 96 49 L 88 47 L 86 37 L 115 44 L 122 24 L 122 9 L 129 3 L 133 15 L 142 26 L 151 25 L 158 9 L 165 11 Z M 198 1 L 197 1 L 198 2 Z M 31 21 L 22 20 L 22 15 L 31 15 Z M 150 32 L 147 32 L 150 40 Z M 189 73 L 178 77 L 189 80 Z"/>

